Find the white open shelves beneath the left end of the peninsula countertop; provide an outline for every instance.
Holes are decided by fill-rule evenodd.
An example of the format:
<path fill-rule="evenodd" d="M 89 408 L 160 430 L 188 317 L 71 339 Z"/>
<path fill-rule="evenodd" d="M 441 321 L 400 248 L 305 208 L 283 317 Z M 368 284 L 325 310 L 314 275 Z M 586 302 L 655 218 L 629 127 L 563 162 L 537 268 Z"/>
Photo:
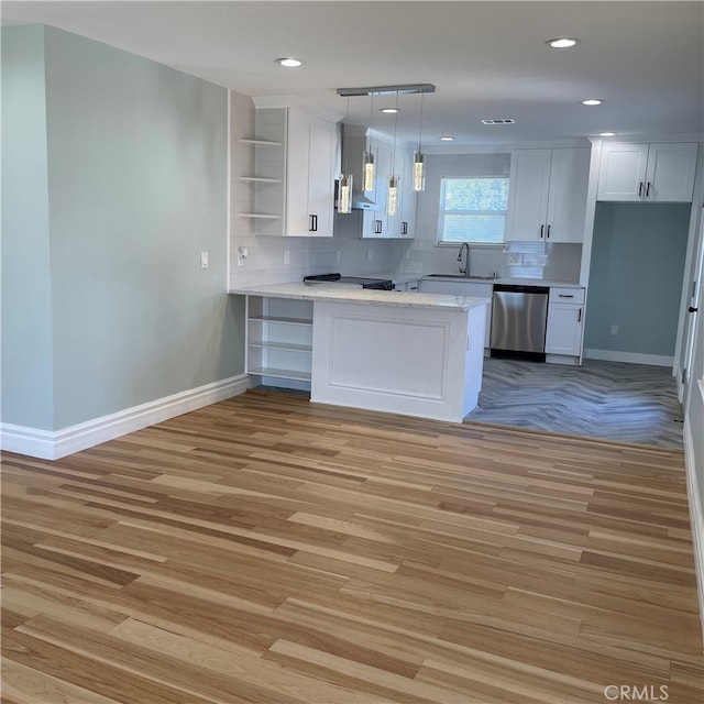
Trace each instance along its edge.
<path fill-rule="evenodd" d="M 312 369 L 312 301 L 248 296 L 246 371 L 304 383 Z"/>

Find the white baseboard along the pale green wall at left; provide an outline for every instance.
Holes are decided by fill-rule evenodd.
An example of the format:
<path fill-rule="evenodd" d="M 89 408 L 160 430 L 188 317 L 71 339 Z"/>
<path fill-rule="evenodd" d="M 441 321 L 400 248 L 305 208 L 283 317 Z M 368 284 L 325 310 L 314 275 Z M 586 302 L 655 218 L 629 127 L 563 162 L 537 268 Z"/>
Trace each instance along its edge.
<path fill-rule="evenodd" d="M 0 424 L 0 449 L 43 460 L 58 460 L 128 432 L 231 398 L 251 385 L 249 375 L 240 374 L 54 431 Z"/>

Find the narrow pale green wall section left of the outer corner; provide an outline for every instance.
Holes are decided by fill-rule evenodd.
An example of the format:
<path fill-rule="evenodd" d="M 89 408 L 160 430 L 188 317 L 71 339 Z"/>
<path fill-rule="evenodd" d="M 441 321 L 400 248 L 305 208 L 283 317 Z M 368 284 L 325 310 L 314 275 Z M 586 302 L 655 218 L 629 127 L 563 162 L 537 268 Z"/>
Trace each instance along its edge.
<path fill-rule="evenodd" d="M 2 31 L 2 410 L 52 428 L 44 30 Z"/>

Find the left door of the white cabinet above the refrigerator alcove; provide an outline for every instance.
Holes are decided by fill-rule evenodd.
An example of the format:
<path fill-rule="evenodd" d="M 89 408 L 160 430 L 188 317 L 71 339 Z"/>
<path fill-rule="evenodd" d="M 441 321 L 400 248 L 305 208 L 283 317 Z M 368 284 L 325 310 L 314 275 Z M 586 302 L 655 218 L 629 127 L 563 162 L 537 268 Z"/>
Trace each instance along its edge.
<path fill-rule="evenodd" d="M 645 193 L 647 144 L 608 142 L 602 146 L 597 200 L 641 200 Z"/>

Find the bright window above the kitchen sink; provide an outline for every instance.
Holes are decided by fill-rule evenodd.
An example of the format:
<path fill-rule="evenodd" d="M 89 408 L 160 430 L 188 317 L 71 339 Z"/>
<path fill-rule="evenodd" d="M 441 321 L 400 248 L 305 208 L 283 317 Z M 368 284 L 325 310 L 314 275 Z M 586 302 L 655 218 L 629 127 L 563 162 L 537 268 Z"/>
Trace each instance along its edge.
<path fill-rule="evenodd" d="M 438 242 L 504 244 L 508 178 L 442 178 Z"/>

